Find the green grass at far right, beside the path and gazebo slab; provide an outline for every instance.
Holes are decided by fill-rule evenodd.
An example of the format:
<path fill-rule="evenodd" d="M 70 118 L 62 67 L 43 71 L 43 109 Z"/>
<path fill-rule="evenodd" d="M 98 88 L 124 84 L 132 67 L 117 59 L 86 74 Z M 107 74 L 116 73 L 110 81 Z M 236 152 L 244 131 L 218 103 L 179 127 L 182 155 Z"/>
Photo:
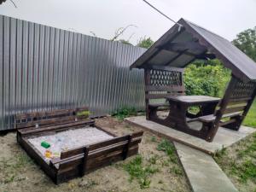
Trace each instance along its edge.
<path fill-rule="evenodd" d="M 256 128 L 256 101 L 243 125 Z M 256 133 L 230 148 L 223 149 L 215 160 L 241 192 L 256 192 Z"/>

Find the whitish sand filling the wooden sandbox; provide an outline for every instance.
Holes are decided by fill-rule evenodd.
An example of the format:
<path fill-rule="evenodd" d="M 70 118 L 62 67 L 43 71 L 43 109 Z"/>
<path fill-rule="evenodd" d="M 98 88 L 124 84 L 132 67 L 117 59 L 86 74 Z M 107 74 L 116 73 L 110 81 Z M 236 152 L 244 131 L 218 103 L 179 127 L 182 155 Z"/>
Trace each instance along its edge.
<path fill-rule="evenodd" d="M 98 143 L 104 140 L 113 138 L 106 132 L 98 130 L 95 127 L 84 127 L 75 130 L 61 131 L 54 135 L 34 137 L 28 139 L 28 142 L 38 149 L 38 151 L 44 156 L 44 160 L 49 162 L 49 158 L 45 157 L 45 151 L 49 150 L 55 157 L 61 155 L 61 151 L 78 148 L 91 143 Z M 47 142 L 50 144 L 49 148 L 44 148 L 41 146 L 42 142 Z"/>

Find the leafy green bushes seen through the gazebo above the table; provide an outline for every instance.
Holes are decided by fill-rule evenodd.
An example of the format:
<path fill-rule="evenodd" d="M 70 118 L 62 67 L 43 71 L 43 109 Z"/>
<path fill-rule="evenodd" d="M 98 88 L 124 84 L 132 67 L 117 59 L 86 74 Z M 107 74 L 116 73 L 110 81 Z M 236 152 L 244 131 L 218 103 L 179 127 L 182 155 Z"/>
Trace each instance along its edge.
<path fill-rule="evenodd" d="M 230 71 L 220 61 L 195 61 L 185 69 L 184 84 L 186 94 L 202 96 L 222 96 L 230 80 Z"/>

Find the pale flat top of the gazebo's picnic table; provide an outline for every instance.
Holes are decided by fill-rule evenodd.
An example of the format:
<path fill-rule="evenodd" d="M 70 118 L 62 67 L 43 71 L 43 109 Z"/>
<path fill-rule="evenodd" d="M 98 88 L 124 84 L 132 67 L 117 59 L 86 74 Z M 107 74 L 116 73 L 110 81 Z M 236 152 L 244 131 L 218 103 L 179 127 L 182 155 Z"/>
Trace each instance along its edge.
<path fill-rule="evenodd" d="M 220 98 L 212 96 L 166 96 L 166 99 L 172 102 L 183 102 L 189 104 L 220 101 Z"/>

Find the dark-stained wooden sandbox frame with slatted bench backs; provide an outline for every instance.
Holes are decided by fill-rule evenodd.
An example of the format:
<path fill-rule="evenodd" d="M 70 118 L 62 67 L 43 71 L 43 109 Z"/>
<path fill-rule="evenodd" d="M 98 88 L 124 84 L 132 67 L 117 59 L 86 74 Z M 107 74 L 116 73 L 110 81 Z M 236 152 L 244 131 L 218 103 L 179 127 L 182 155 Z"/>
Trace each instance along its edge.
<path fill-rule="evenodd" d="M 87 108 L 61 109 L 51 112 L 22 113 L 15 117 L 17 141 L 35 160 L 44 172 L 56 183 L 63 183 L 74 177 L 82 177 L 102 166 L 138 153 L 143 131 L 117 137 L 113 133 L 95 125 L 84 114 Z M 52 136 L 63 131 L 94 127 L 110 137 L 108 140 L 61 151 L 60 157 L 45 160 L 30 140 L 35 137 Z"/>

